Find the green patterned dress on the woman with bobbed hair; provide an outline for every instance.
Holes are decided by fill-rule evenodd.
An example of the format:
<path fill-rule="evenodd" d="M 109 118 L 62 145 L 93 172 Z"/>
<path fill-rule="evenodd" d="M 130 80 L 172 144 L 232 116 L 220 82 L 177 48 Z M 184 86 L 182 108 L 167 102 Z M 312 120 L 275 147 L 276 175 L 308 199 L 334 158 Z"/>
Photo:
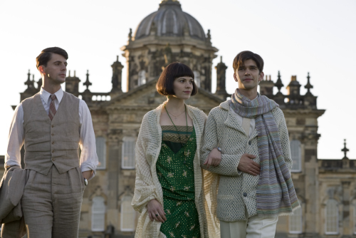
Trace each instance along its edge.
<path fill-rule="evenodd" d="M 163 190 L 167 221 L 161 232 L 166 237 L 200 237 L 199 215 L 195 207 L 194 166 L 197 137 L 193 126 L 162 125 L 162 148 L 156 164 Z M 179 140 L 179 136 L 182 139 Z"/>

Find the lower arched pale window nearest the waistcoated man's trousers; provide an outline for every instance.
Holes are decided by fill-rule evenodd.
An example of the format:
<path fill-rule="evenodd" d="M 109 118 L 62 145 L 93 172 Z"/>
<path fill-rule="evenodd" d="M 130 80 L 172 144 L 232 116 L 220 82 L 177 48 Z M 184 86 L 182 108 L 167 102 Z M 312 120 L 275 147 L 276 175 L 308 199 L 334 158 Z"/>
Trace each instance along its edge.
<path fill-rule="evenodd" d="M 105 230 L 105 201 L 103 197 L 93 198 L 91 216 L 91 230 L 103 232 Z"/>

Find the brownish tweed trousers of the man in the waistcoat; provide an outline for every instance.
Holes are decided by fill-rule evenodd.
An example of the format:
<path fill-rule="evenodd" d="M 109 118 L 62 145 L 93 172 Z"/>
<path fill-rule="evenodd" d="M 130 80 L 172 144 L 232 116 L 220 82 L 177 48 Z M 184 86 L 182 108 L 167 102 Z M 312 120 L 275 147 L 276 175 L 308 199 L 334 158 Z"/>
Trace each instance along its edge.
<path fill-rule="evenodd" d="M 53 165 L 47 175 L 30 170 L 21 199 L 27 237 L 78 237 L 84 189 L 79 167 L 60 174 Z"/>

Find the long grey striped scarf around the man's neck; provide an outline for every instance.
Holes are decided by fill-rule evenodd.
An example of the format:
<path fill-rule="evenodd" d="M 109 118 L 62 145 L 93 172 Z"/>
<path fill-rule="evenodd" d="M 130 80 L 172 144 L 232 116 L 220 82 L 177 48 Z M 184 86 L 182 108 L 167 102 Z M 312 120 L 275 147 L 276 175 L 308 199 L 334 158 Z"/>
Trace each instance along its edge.
<path fill-rule="evenodd" d="M 279 105 L 265 95 L 249 100 L 236 89 L 229 104 L 243 118 L 255 118 L 261 173 L 256 190 L 257 214 L 277 217 L 300 207 L 284 161 L 276 120 L 271 110 Z"/>

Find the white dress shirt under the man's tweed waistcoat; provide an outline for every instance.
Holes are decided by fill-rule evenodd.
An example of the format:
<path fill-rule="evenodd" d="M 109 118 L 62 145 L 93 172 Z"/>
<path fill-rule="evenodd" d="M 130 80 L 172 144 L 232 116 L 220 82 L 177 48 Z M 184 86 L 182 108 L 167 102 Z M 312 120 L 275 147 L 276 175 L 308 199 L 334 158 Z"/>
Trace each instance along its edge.
<path fill-rule="evenodd" d="M 62 88 L 56 93 L 56 99 L 54 105 L 58 110 L 59 103 L 63 98 Z M 51 104 L 51 93 L 41 88 L 40 90 L 41 101 L 47 114 Z M 84 100 L 79 102 L 79 120 L 80 120 L 80 170 L 82 172 L 93 170 L 95 176 L 96 167 L 98 165 L 98 155 L 96 154 L 95 134 L 93 129 L 93 122 L 91 120 L 90 110 Z M 5 167 L 12 165 L 21 166 L 21 148 L 24 140 L 24 128 L 23 128 L 23 108 L 22 103 L 15 108 L 14 116 L 11 121 L 8 145 L 5 155 Z"/>

